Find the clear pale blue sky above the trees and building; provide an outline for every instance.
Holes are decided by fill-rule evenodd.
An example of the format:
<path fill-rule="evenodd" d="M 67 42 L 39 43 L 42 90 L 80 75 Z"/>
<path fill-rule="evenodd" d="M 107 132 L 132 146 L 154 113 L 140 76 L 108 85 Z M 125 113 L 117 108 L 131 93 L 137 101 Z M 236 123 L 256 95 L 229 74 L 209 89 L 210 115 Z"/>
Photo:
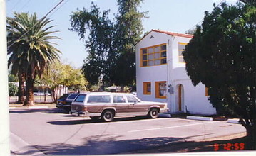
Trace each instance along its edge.
<path fill-rule="evenodd" d="M 13 12 L 36 12 L 39 18 L 43 17 L 53 9 L 61 0 L 6 0 L 6 16 L 13 16 Z M 76 32 L 71 32 L 70 15 L 77 9 L 90 9 L 92 0 L 65 0 L 48 18 L 53 19 L 52 25 L 56 25 L 55 30 L 60 30 L 57 35 L 61 40 L 57 40 L 58 48 L 61 50 L 61 60 L 80 68 L 83 60 L 87 56 L 84 43 L 79 40 Z M 148 17 L 143 19 L 144 32 L 151 29 L 160 29 L 175 33 L 184 33 L 193 28 L 195 24 L 203 19 L 205 11 L 213 10 L 213 3 L 219 4 L 221 0 L 144 0 L 140 11 L 148 11 Z M 236 0 L 229 0 L 234 3 Z M 116 0 L 93 0 L 101 11 L 111 9 L 111 19 L 113 13 L 117 13 L 118 6 Z"/>

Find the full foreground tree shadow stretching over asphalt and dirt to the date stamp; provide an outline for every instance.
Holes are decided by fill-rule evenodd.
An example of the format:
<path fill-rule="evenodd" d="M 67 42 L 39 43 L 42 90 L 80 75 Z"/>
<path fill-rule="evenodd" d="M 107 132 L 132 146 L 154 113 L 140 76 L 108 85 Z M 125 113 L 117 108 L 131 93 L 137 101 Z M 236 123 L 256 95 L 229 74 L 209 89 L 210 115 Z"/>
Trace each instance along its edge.
<path fill-rule="evenodd" d="M 94 135 L 83 139 L 81 145 L 56 143 L 52 145 L 36 145 L 46 155 L 112 155 L 136 153 L 171 153 L 171 152 L 217 152 L 227 151 L 223 147 L 227 143 L 244 143 L 238 150 L 251 150 L 247 138 L 214 141 L 185 141 L 189 138 L 143 138 L 134 140 L 118 140 L 121 136 Z M 194 136 L 192 136 L 194 137 Z M 218 148 L 215 145 L 219 145 Z M 230 148 L 230 150 L 235 150 Z M 236 150 L 236 151 L 238 151 Z M 30 152 L 20 153 L 21 155 Z"/>

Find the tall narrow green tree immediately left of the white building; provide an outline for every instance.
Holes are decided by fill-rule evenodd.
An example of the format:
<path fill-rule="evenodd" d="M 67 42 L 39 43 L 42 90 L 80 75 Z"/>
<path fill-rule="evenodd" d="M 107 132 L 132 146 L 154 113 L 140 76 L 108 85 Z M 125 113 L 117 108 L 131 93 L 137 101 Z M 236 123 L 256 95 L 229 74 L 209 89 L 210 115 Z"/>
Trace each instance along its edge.
<path fill-rule="evenodd" d="M 111 64 L 110 79 L 123 86 L 135 82 L 135 43 L 143 33 L 145 13 L 138 11 L 141 0 L 118 0 L 115 26 L 115 55 Z"/>

